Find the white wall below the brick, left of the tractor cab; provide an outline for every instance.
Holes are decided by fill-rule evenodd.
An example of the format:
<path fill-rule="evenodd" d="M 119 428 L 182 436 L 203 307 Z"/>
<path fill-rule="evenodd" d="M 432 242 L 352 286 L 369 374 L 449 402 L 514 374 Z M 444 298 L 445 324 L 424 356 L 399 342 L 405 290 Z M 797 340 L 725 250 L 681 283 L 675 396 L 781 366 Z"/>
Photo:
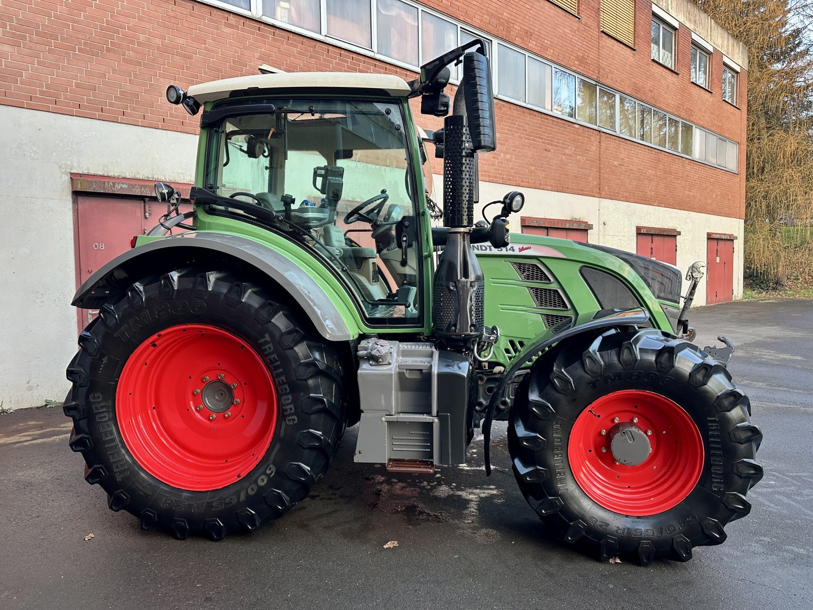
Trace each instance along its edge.
<path fill-rule="evenodd" d="M 0 408 L 67 392 L 76 351 L 71 172 L 193 181 L 196 138 L 0 105 Z M 11 143 L 13 142 L 13 143 Z"/>

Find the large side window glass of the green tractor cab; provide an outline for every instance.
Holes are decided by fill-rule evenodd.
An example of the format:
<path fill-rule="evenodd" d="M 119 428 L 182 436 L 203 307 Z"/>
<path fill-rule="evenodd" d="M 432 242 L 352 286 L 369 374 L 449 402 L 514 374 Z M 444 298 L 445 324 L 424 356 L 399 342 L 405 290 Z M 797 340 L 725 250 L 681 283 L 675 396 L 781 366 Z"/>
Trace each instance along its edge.
<path fill-rule="evenodd" d="M 349 281 L 377 323 L 415 325 L 420 257 L 401 107 L 269 101 L 273 113 L 241 114 L 220 124 L 207 168 L 209 190 L 274 211 L 276 229 Z M 406 244 L 396 244 L 396 233 L 406 233 Z"/>

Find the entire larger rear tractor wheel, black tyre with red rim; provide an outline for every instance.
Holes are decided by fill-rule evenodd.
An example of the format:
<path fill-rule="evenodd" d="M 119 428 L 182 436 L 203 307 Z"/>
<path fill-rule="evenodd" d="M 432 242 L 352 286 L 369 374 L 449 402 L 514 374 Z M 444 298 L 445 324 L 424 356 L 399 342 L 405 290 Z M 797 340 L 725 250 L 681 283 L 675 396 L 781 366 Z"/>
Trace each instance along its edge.
<path fill-rule="evenodd" d="M 141 529 L 220 539 L 303 499 L 344 430 L 337 355 L 267 289 L 148 277 L 80 334 L 64 411 L 85 479 Z"/>

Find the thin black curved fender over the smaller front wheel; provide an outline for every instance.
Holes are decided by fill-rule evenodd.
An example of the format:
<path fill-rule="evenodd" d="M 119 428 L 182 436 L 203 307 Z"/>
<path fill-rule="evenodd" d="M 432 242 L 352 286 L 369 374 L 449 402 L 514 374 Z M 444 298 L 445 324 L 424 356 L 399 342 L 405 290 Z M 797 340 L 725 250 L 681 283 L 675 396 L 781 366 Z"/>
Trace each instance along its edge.
<path fill-rule="evenodd" d="M 541 333 L 537 338 L 528 343 L 519 354 L 511 359 L 511 364 L 506 368 L 505 373 L 502 373 L 500 381 L 494 387 L 493 394 L 489 400 L 489 406 L 486 409 L 485 420 L 483 422 L 483 441 L 485 444 L 485 473 L 491 474 L 491 422 L 493 421 L 494 411 L 497 403 L 502 399 L 505 394 L 506 386 L 508 386 L 511 378 L 514 377 L 520 368 L 528 364 L 532 359 L 546 351 L 550 346 L 563 342 L 567 339 L 572 339 L 580 335 L 594 335 L 605 332 L 608 329 L 618 328 L 620 326 L 641 326 L 645 325 L 650 319 L 650 314 L 643 308 L 628 309 L 623 312 L 612 312 L 609 315 L 594 317 L 597 313 L 583 314 L 579 316 L 575 322 L 569 325 L 554 327 L 553 329 Z"/>

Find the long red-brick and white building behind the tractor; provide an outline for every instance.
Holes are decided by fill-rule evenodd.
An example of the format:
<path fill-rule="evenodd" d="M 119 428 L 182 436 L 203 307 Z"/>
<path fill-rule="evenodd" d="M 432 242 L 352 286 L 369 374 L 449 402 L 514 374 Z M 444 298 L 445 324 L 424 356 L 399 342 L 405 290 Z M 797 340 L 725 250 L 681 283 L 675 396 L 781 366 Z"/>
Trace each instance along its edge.
<path fill-rule="evenodd" d="M 167 84 L 263 63 L 412 79 L 485 37 L 498 151 L 481 158 L 481 198 L 524 190 L 528 232 L 728 264 L 730 291 L 709 282 L 695 303 L 741 294 L 746 50 L 689 0 L 2 0 L 0 15 L 6 407 L 62 398 L 80 242 L 105 244 L 83 233 L 77 176 L 101 176 L 114 207 L 139 180 L 189 184 L 198 120 Z"/>

